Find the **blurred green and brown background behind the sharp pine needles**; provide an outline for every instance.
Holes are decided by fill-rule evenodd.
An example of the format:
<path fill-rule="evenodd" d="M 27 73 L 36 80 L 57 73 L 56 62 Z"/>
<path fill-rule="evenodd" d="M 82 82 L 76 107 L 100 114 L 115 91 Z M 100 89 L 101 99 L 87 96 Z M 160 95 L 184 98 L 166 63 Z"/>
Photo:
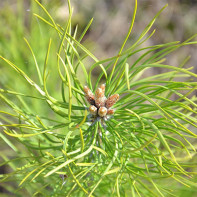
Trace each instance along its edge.
<path fill-rule="evenodd" d="M 65 27 L 68 18 L 66 0 L 42 0 L 40 2 L 47 8 L 52 17 L 62 27 Z M 136 20 L 125 48 L 131 46 L 138 39 L 151 19 L 167 3 L 168 7 L 161 13 L 152 28 L 152 30 L 156 29 L 155 34 L 143 43 L 142 47 L 172 41 L 182 42 L 197 33 L 196 0 L 138 0 Z M 130 26 L 134 0 L 71 0 L 71 4 L 74 7 L 73 29 L 78 25 L 79 36 L 91 18 L 94 18 L 82 43 L 98 59 L 116 55 Z M 29 41 L 39 65 L 44 64 L 49 38 L 52 37 L 53 39 L 51 53 L 54 54 L 58 49 L 59 39 L 55 31 L 33 16 L 33 13 L 40 14 L 48 19 L 33 0 L 0 0 L 0 55 L 14 62 L 36 81 L 34 61 L 24 42 L 24 37 Z M 197 73 L 196 52 L 196 45 L 182 47 L 167 56 L 167 63 L 178 66 L 185 57 L 191 56 L 186 67 L 193 66 L 194 72 Z M 56 64 L 55 55 L 50 57 L 49 64 L 53 71 L 52 66 Z M 98 72 L 99 70 L 94 70 L 95 78 L 98 76 Z M 161 72 L 162 70 L 155 68 L 146 74 L 153 75 Z M 0 60 L 0 73 L 0 88 L 32 94 L 31 87 L 26 86 L 24 79 L 16 75 L 16 72 L 2 60 Z M 54 73 L 56 73 L 55 70 Z M 83 78 L 80 80 L 84 81 Z M 52 82 L 49 80 L 49 91 L 55 97 L 59 97 L 57 91 L 59 88 L 58 79 L 53 79 Z M 29 101 L 29 105 L 35 111 L 40 112 L 40 108 L 42 108 L 43 113 L 48 113 L 48 106 L 41 105 L 37 101 L 33 103 Z M 1 100 L 0 108 L 9 112 L 9 109 Z M 3 119 L 1 115 L 0 119 Z M 6 153 L 8 158 L 14 157 L 13 152 L 8 149 L 5 142 L 0 143 L 0 151 Z M 7 169 L 1 167 L 0 173 L 5 172 L 7 172 Z M 2 188 L 0 188 L 0 192 L 3 192 Z M 192 197 L 195 194 L 194 190 L 182 187 L 178 196 Z"/>

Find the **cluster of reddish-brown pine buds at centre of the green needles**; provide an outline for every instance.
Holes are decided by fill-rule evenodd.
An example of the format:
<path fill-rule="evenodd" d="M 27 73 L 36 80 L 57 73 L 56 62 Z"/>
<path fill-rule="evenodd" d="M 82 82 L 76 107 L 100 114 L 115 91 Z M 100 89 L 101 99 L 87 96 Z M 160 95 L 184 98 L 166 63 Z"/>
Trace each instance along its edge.
<path fill-rule="evenodd" d="M 93 116 L 105 118 L 107 115 L 114 114 L 114 109 L 111 107 L 118 101 L 119 94 L 106 98 L 105 84 L 100 85 L 95 95 L 87 86 L 84 86 L 84 93 L 88 103 L 90 103 L 89 111 Z"/>

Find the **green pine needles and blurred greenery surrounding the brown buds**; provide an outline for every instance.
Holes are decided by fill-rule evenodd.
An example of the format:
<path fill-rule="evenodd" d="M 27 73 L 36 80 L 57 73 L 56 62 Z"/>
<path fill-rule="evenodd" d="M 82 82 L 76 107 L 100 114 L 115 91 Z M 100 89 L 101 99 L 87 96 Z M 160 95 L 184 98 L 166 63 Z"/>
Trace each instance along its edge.
<path fill-rule="evenodd" d="M 197 98 L 193 92 L 197 74 L 184 68 L 189 57 L 178 67 L 168 65 L 165 57 L 197 44 L 196 35 L 184 42 L 144 48 L 164 6 L 126 48 L 137 0 L 133 5 L 118 54 L 103 60 L 81 43 L 92 20 L 78 32 L 78 26 L 72 25 L 69 0 L 65 26 L 34 0 L 31 31 L 24 44 L 18 45 L 25 31 L 22 11 L 17 30 L 5 30 L 12 38 L 0 45 L 0 137 L 9 147 L 1 150 L 0 165 L 7 169 L 1 175 L 5 192 L 135 197 L 177 196 L 184 190 L 195 195 Z M 138 59 L 133 61 L 136 54 Z M 151 68 L 165 72 L 144 77 Z M 100 72 L 96 79 L 92 77 L 95 69 Z M 103 82 L 105 95 L 117 93 L 120 99 L 108 120 L 92 121 L 83 87 L 88 85 L 95 92 Z"/>

